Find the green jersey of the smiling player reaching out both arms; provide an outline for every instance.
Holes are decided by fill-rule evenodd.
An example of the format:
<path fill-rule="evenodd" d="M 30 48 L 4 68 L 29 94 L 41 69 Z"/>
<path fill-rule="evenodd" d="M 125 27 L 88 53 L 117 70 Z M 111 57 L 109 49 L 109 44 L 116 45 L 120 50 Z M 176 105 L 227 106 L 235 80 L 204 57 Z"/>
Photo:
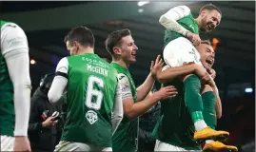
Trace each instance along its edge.
<path fill-rule="evenodd" d="M 128 68 L 124 66 L 120 66 L 116 63 L 111 63 L 112 66 L 115 67 L 119 74 L 119 81 L 122 81 L 125 77 L 128 78 L 128 84 L 130 86 L 130 91 L 133 97 L 133 101 L 137 101 L 137 91 L 134 85 L 134 82 L 128 72 Z M 122 88 L 126 89 L 126 88 Z M 113 143 L 113 151 L 123 151 L 130 152 L 137 149 L 137 127 L 138 127 L 138 119 L 128 119 L 128 117 L 124 116 L 122 122 L 119 124 L 115 134 L 112 138 Z"/>

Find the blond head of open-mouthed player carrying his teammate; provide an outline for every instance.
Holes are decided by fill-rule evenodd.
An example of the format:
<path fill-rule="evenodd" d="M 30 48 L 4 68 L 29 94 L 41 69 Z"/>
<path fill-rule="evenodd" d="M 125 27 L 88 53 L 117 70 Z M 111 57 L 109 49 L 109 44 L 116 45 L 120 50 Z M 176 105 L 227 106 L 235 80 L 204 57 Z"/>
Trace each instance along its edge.
<path fill-rule="evenodd" d="M 201 44 L 196 47 L 200 56 L 201 62 L 206 69 L 211 68 L 215 61 L 215 51 L 208 40 L 202 41 Z"/>

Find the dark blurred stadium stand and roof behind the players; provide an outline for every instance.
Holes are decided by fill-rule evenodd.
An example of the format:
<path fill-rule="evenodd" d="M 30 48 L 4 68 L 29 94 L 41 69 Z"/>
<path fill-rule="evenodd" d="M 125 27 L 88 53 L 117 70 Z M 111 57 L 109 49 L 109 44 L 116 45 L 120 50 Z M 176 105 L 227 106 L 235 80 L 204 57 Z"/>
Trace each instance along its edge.
<path fill-rule="evenodd" d="M 146 79 L 150 61 L 163 48 L 164 28 L 158 23 L 168 9 L 187 5 L 194 16 L 208 2 L 0 2 L 0 19 L 24 28 L 30 45 L 30 77 L 34 89 L 40 78 L 54 72 L 69 55 L 63 42 L 70 28 L 87 26 L 95 35 L 95 52 L 110 59 L 104 41 L 112 30 L 129 28 L 136 45 L 137 63 L 130 66 L 136 85 Z M 230 132 L 228 143 L 255 149 L 255 2 L 212 2 L 223 12 L 220 26 L 202 39 L 216 44 L 216 83 L 223 102 L 219 129 Z M 159 88 L 159 84 L 157 84 Z M 250 92 L 252 88 L 252 92 Z M 251 143 L 251 144 L 249 144 Z"/>

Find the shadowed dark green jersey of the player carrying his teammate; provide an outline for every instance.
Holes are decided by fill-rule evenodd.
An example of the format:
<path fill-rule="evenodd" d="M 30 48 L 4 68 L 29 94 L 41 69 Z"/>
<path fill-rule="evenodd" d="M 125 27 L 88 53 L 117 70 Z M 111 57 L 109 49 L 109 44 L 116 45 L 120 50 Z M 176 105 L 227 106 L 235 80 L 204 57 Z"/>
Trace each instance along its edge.
<path fill-rule="evenodd" d="M 201 150 L 201 146 L 193 139 L 194 125 L 184 100 L 184 84 L 176 79 L 167 85 L 174 85 L 176 97 L 161 101 L 161 117 L 156 124 L 153 136 L 161 142 L 180 146 L 189 150 Z"/>

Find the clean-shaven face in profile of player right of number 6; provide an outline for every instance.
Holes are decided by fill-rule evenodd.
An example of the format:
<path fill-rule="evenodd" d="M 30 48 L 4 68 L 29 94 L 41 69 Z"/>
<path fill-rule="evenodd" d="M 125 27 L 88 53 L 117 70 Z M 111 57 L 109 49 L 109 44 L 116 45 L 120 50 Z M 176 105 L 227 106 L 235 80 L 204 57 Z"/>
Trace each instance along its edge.
<path fill-rule="evenodd" d="M 134 44 L 131 35 L 123 37 L 121 41 L 121 58 L 128 64 L 135 63 L 138 47 Z"/>

